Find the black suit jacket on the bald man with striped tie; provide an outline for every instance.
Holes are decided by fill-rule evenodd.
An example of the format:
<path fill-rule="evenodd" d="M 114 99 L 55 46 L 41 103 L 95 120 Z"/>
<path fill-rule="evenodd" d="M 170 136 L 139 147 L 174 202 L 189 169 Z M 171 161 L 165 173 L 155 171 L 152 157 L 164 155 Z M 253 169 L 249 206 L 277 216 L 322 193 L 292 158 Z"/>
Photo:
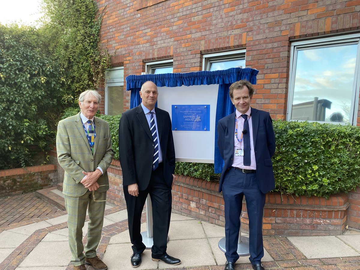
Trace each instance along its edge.
<path fill-rule="evenodd" d="M 164 165 L 165 183 L 171 188 L 175 172 L 175 148 L 171 120 L 168 112 L 155 108 L 157 133 Z M 141 104 L 122 114 L 119 123 L 119 159 L 122 168 L 122 184 L 138 183 L 145 190 L 150 181 L 154 154 L 154 142 Z"/>

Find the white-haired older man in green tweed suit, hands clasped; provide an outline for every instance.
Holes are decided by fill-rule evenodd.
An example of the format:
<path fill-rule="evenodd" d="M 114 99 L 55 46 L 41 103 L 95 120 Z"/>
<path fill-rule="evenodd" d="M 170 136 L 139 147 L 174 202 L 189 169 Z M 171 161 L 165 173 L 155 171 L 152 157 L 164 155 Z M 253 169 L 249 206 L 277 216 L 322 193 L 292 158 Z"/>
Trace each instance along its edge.
<path fill-rule="evenodd" d="M 108 122 L 95 117 L 101 96 L 94 90 L 80 94 L 81 112 L 58 124 L 56 148 L 64 168 L 63 193 L 68 212 L 71 263 L 75 270 L 108 267 L 96 255 L 104 221 L 106 191 L 109 189 L 107 168 L 114 152 Z M 89 206 L 87 243 L 82 244 L 86 208 Z"/>

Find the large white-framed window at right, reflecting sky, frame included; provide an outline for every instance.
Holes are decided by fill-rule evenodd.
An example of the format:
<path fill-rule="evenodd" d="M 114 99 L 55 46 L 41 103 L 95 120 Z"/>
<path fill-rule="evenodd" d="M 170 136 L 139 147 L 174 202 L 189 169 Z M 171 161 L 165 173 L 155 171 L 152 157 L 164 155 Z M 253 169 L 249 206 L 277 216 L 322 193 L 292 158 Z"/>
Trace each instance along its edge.
<path fill-rule="evenodd" d="M 359 34 L 293 42 L 288 120 L 356 124 Z"/>

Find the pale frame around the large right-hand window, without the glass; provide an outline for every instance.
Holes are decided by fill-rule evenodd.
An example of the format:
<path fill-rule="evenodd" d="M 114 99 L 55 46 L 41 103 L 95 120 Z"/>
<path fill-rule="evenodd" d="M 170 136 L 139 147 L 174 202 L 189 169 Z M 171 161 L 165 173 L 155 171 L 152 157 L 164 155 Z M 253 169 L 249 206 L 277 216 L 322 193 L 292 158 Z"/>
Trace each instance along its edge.
<path fill-rule="evenodd" d="M 289 89 L 288 89 L 288 102 L 287 102 L 287 112 L 286 120 L 287 121 L 304 121 L 304 120 L 291 120 L 291 111 L 293 106 L 294 98 L 294 82 L 296 75 L 296 64 L 297 64 L 297 51 L 303 49 L 311 48 L 324 48 L 324 47 L 335 47 L 345 44 L 357 44 L 357 54 L 356 54 L 356 63 L 354 71 L 354 83 L 352 86 L 352 96 L 351 96 L 351 107 L 350 107 L 350 119 L 349 123 L 351 125 L 356 125 L 357 121 L 357 112 L 359 110 L 359 88 L 360 88 L 360 70 L 359 70 L 359 60 L 360 60 L 360 33 L 343 35 L 343 36 L 332 36 L 332 37 L 323 37 L 316 38 L 311 40 L 301 40 L 294 41 L 291 43 L 290 48 L 290 68 L 289 68 Z M 308 121 L 308 122 L 319 122 L 319 123 L 333 123 L 326 121 Z M 344 124 L 344 123 L 342 123 Z"/>

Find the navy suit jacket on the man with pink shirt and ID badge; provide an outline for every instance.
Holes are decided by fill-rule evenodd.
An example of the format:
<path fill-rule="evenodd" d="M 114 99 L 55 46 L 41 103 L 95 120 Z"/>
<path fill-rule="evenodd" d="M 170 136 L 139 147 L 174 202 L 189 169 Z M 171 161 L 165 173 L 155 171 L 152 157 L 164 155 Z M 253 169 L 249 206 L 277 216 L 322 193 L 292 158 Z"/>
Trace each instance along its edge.
<path fill-rule="evenodd" d="M 233 164 L 234 132 L 236 113 L 231 113 L 219 120 L 217 144 L 221 157 L 224 159 L 224 168 L 221 172 L 219 192 L 227 170 Z M 251 108 L 252 134 L 256 159 L 256 176 L 262 193 L 275 188 L 273 163 L 271 157 L 275 153 L 275 134 L 273 123 L 268 112 Z"/>

